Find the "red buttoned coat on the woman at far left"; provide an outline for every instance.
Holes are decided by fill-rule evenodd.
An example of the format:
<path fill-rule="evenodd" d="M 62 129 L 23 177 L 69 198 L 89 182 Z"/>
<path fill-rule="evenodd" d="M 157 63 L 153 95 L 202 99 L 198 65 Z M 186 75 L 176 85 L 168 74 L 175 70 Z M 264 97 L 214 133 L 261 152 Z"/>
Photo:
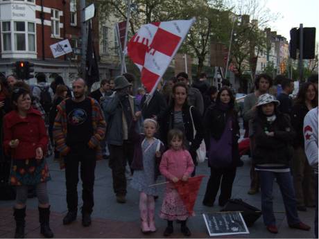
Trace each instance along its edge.
<path fill-rule="evenodd" d="M 45 155 L 49 142 L 46 127 L 41 113 L 29 109 L 26 118 L 21 118 L 17 111 L 12 110 L 3 118 L 3 147 L 12 159 L 33 159 L 35 150 L 42 148 Z M 17 148 L 10 148 L 11 140 L 19 139 Z"/>

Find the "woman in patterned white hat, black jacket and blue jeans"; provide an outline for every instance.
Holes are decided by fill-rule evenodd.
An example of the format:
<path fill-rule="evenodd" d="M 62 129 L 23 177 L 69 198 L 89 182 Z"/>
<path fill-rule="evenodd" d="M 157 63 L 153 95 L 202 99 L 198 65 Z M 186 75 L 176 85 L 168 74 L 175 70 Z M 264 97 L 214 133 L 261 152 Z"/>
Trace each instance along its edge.
<path fill-rule="evenodd" d="M 252 122 L 255 136 L 252 162 L 259 173 L 261 212 L 268 231 L 278 233 L 273 213 L 273 182 L 276 178 L 284 200 L 289 227 L 309 230 L 310 227 L 300 222 L 298 217 L 293 179 L 289 169 L 292 157 L 291 143 L 295 132 L 288 116 L 277 110 L 278 105 L 279 101 L 270 94 L 259 96 L 257 115 Z"/>

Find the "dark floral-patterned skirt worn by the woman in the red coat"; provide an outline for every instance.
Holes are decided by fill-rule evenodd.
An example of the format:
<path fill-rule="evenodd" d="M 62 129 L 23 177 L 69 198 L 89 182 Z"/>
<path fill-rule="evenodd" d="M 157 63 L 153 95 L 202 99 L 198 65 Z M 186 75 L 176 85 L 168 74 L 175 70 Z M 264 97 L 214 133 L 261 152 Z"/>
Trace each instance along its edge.
<path fill-rule="evenodd" d="M 51 180 L 45 159 L 13 159 L 10 184 L 14 186 L 36 185 Z"/>

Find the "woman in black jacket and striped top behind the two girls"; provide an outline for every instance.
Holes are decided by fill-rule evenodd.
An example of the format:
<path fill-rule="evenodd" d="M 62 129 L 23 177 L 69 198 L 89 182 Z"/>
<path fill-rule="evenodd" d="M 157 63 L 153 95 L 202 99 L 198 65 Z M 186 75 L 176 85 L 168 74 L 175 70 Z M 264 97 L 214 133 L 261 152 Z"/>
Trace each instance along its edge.
<path fill-rule="evenodd" d="M 173 86 L 171 105 L 158 118 L 160 138 L 165 146 L 168 146 L 167 134 L 169 130 L 173 128 L 182 130 L 186 138 L 184 146 L 189 150 L 194 164 L 197 165 L 196 150 L 202 142 L 204 131 L 200 113 L 195 107 L 190 107 L 187 104 L 187 94 L 187 85 L 183 82 L 178 82 Z M 193 123 L 191 116 L 193 117 Z M 193 135 L 193 124 L 196 130 L 195 136 Z"/>

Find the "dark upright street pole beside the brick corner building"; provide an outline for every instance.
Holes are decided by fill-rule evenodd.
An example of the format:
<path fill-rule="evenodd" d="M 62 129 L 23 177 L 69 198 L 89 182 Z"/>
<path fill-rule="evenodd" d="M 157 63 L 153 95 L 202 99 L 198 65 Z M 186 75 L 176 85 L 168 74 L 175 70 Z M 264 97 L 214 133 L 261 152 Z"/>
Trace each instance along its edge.
<path fill-rule="evenodd" d="M 87 24 L 85 21 L 85 0 L 80 0 L 81 14 L 81 76 L 85 79 L 85 64 L 86 64 L 86 48 L 87 48 Z"/>

